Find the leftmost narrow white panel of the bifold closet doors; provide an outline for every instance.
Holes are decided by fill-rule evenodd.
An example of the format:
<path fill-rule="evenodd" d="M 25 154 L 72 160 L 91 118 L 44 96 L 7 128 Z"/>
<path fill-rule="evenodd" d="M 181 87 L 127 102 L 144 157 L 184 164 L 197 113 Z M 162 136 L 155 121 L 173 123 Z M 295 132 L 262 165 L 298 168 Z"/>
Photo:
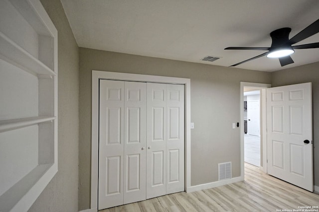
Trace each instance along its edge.
<path fill-rule="evenodd" d="M 123 205 L 124 81 L 100 80 L 98 209 Z"/>

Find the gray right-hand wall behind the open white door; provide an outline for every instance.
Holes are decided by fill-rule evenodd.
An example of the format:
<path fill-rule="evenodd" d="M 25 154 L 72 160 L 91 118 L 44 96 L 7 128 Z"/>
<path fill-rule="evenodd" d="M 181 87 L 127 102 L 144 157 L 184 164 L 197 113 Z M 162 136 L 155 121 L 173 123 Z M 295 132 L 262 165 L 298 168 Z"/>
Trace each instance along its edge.
<path fill-rule="evenodd" d="M 313 85 L 313 141 L 314 184 L 319 186 L 319 63 L 275 71 L 271 73 L 272 87 L 312 82 Z"/>

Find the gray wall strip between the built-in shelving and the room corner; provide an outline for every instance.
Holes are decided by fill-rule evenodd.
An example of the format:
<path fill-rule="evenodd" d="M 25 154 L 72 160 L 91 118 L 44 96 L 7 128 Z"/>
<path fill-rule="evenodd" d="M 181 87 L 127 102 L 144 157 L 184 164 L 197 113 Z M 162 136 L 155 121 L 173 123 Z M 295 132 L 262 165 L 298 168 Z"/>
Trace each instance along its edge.
<path fill-rule="evenodd" d="M 77 212 L 79 48 L 60 0 L 41 3 L 58 30 L 58 173 L 29 212 Z"/>

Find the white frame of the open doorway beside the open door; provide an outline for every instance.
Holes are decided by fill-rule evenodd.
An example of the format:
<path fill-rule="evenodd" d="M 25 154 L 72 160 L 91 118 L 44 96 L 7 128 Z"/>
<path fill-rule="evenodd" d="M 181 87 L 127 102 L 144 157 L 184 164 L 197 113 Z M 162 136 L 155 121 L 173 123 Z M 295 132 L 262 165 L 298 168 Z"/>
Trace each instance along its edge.
<path fill-rule="evenodd" d="M 240 82 L 240 173 L 241 177 L 245 179 L 245 167 L 244 167 L 244 87 L 251 87 L 260 89 L 260 140 L 262 142 L 262 158 L 260 164 L 260 170 L 267 173 L 267 130 L 266 130 L 266 89 L 271 87 L 271 84 L 254 83 L 254 82 Z"/>

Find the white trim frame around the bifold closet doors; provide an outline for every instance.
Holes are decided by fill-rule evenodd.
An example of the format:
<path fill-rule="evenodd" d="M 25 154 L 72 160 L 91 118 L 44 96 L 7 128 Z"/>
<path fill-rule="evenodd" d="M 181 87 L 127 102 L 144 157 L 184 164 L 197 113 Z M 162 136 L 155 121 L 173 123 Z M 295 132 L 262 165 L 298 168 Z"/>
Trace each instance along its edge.
<path fill-rule="evenodd" d="M 98 162 L 99 162 L 99 80 L 123 80 L 183 84 L 185 86 L 185 191 L 190 188 L 190 79 L 92 70 L 92 131 L 91 131 L 91 209 L 98 208 Z"/>

